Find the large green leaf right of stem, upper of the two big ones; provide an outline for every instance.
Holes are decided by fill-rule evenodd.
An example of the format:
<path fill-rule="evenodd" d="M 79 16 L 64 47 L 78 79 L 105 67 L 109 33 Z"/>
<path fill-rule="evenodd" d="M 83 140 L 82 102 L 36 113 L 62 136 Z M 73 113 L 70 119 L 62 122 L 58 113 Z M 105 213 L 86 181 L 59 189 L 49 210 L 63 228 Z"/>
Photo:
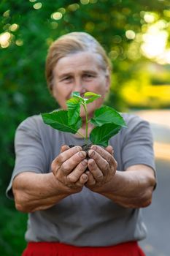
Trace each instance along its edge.
<path fill-rule="evenodd" d="M 90 119 L 90 122 L 96 127 L 101 127 L 103 124 L 117 124 L 120 127 L 127 127 L 120 113 L 108 106 L 96 109 L 94 117 Z"/>

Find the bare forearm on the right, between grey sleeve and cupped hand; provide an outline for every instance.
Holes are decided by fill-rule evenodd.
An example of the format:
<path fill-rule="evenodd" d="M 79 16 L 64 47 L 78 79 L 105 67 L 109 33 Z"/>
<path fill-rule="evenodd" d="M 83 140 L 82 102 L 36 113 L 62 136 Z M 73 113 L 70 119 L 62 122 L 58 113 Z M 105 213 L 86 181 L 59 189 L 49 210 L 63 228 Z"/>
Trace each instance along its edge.
<path fill-rule="evenodd" d="M 128 208 L 149 206 L 152 201 L 152 190 L 155 177 L 148 170 L 116 171 L 115 176 L 104 187 L 96 192 Z"/>

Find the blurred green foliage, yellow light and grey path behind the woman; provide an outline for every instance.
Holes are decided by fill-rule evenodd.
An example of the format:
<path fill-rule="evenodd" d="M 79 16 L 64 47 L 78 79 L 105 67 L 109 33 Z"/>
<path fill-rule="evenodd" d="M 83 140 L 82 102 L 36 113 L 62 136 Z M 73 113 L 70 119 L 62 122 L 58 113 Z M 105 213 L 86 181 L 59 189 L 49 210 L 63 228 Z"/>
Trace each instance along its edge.
<path fill-rule="evenodd" d="M 170 1 L 1 0 L 0 2 L 0 254 L 26 246 L 27 214 L 5 197 L 14 166 L 15 129 L 23 119 L 55 109 L 47 91 L 45 57 L 51 42 L 71 31 L 96 37 L 112 60 L 107 104 L 150 121 L 158 173 L 144 209 L 149 256 L 169 256 Z"/>

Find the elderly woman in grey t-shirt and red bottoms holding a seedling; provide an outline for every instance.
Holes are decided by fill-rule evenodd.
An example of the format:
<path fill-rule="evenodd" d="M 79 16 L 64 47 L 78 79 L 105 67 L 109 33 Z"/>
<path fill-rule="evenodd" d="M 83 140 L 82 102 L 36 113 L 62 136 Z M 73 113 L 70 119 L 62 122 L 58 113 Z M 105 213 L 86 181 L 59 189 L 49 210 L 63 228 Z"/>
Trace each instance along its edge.
<path fill-rule="evenodd" d="M 50 46 L 47 84 L 63 109 L 73 91 L 93 91 L 101 94 L 88 105 L 93 116 L 109 91 L 110 72 L 104 48 L 89 34 L 66 34 Z M 80 114 L 79 132 L 85 134 L 83 109 Z M 93 145 L 88 159 L 79 135 L 59 132 L 41 116 L 20 124 L 7 195 L 28 213 L 23 256 L 144 255 L 138 245 L 146 236 L 140 208 L 150 205 L 155 187 L 152 135 L 146 121 L 122 115 L 128 129 L 107 148 Z M 89 123 L 88 132 L 92 128 Z"/>

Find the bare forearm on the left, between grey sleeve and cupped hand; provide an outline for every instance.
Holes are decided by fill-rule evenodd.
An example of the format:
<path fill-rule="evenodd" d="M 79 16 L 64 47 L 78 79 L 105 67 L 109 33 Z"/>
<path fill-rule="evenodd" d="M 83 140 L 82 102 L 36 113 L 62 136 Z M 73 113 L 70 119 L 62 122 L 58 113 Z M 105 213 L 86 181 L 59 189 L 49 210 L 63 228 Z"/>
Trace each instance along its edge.
<path fill-rule="evenodd" d="M 53 173 L 20 173 L 13 181 L 12 191 L 16 208 L 23 212 L 50 208 L 71 194 Z"/>

